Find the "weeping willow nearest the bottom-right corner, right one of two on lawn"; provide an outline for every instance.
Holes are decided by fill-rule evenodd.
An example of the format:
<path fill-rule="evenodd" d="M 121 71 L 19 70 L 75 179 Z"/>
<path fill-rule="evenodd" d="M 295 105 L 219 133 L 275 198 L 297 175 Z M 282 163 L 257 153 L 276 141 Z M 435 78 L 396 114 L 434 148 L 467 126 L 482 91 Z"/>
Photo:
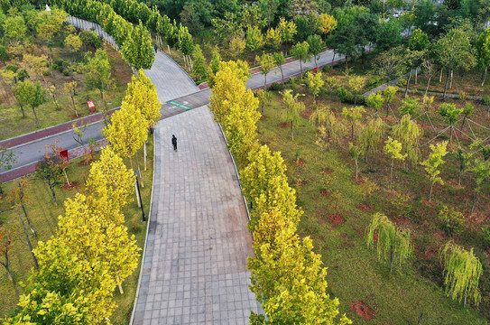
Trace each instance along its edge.
<path fill-rule="evenodd" d="M 482 300 L 478 283 L 483 268 L 478 257 L 473 254 L 473 248 L 467 251 L 450 241 L 442 247 L 439 257 L 444 263 L 444 285 L 448 297 L 463 301 L 465 307 L 470 299 L 477 306 Z"/>

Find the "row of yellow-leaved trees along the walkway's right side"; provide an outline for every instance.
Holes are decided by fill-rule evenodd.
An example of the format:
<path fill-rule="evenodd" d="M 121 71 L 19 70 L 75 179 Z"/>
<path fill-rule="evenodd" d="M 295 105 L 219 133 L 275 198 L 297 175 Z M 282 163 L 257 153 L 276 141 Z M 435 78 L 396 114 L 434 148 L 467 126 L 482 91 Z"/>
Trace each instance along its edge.
<path fill-rule="evenodd" d="M 302 210 L 285 175 L 280 153 L 256 140 L 258 99 L 245 88 L 244 62 L 220 62 L 211 90 L 210 109 L 223 126 L 230 151 L 241 167 L 245 198 L 254 204 L 251 230 L 254 257 L 248 261 L 251 289 L 267 314 L 252 315 L 254 323 L 347 324 L 337 318 L 338 300 L 327 293 L 321 256 L 310 237 L 296 234 Z"/>

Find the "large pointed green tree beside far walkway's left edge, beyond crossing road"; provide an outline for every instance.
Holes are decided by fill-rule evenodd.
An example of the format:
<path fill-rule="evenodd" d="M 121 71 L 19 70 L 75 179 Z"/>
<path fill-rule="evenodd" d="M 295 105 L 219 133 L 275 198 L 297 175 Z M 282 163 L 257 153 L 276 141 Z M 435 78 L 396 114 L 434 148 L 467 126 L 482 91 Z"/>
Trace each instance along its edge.
<path fill-rule="evenodd" d="M 142 22 L 129 31 L 121 48 L 121 54 L 134 70 L 152 68 L 155 60 L 152 37 Z"/>

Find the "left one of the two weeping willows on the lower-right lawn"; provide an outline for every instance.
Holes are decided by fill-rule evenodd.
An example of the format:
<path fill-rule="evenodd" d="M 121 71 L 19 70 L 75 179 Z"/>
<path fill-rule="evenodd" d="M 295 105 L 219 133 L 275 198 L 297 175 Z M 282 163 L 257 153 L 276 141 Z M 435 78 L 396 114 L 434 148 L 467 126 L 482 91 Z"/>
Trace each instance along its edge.
<path fill-rule="evenodd" d="M 378 212 L 367 228 L 366 243 L 369 247 L 374 246 L 374 233 L 378 235 L 376 242 L 378 259 L 382 256 L 386 259 L 389 254 L 390 273 L 392 273 L 393 263 L 398 262 L 402 265 L 403 261 L 411 255 L 410 230 L 396 228 L 389 218 Z"/>

